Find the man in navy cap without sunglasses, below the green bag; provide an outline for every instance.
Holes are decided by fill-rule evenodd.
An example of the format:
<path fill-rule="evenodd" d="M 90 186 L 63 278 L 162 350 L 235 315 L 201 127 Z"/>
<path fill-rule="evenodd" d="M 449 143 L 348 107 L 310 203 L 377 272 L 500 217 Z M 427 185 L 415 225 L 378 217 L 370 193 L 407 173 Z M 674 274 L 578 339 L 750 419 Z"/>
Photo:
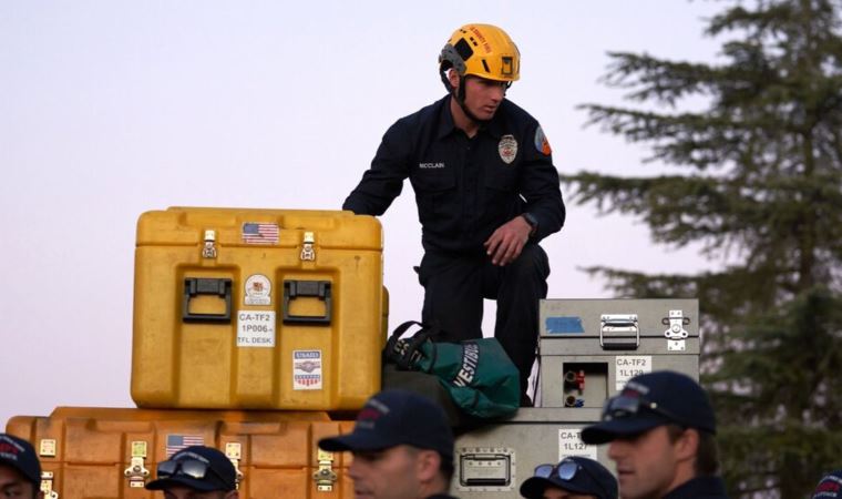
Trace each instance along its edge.
<path fill-rule="evenodd" d="M 407 390 L 368 399 L 353 431 L 322 438 L 328 451 L 349 450 L 357 499 L 452 499 L 453 432 L 444 411 Z"/>

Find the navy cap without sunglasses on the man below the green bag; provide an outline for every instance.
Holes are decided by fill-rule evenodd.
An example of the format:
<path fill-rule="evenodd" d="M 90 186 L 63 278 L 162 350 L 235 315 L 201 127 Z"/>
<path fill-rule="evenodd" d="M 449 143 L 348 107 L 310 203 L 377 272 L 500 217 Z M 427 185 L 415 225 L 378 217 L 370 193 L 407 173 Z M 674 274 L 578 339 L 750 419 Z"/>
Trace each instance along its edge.
<path fill-rule="evenodd" d="M 380 450 L 408 445 L 439 452 L 453 462 L 453 431 L 444 410 L 432 400 L 412 391 L 389 389 L 366 401 L 357 415 L 353 431 L 322 438 L 325 450 Z"/>

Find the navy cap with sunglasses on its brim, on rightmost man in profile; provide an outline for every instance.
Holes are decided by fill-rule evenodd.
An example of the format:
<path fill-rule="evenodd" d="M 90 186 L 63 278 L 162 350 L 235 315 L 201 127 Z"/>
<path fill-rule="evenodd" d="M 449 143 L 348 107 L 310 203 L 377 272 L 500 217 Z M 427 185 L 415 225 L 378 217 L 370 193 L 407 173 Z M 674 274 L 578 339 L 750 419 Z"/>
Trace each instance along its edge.
<path fill-rule="evenodd" d="M 582 441 L 605 444 L 671 424 L 716 434 L 713 408 L 698 383 L 671 370 L 647 373 L 606 400 L 602 421 L 584 428 Z"/>

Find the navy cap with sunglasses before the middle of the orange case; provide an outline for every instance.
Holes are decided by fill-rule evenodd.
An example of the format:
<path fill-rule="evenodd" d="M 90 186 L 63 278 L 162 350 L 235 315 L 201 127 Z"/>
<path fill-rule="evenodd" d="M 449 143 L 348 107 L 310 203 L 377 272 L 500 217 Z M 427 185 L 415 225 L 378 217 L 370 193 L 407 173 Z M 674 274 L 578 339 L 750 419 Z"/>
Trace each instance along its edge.
<path fill-rule="evenodd" d="M 237 470 L 213 447 L 186 447 L 158 462 L 157 479 L 146 483 L 146 489 L 166 490 L 178 486 L 201 492 L 230 491 L 237 488 Z"/>

